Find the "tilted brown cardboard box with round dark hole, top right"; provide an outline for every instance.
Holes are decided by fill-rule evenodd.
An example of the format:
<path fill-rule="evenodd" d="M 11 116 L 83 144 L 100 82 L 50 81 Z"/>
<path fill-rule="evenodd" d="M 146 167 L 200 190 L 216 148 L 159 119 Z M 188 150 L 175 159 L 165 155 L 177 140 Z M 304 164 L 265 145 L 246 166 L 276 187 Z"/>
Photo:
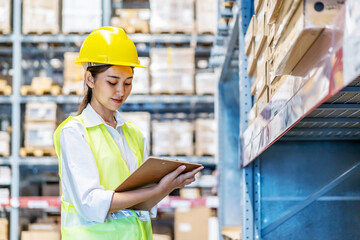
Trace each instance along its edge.
<path fill-rule="evenodd" d="M 289 74 L 326 24 L 330 23 L 340 7 L 338 1 L 323 1 L 324 9 L 316 13 L 315 1 L 300 1 L 298 8 L 286 26 L 274 53 L 274 70 L 276 75 Z"/>

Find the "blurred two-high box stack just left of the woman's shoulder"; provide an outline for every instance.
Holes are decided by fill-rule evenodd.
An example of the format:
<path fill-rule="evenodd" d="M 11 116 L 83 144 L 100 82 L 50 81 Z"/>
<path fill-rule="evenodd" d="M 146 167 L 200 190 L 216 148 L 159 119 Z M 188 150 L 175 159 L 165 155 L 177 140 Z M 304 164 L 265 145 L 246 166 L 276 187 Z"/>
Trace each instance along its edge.
<path fill-rule="evenodd" d="M 52 148 L 56 126 L 56 103 L 27 103 L 25 112 L 25 148 Z"/>

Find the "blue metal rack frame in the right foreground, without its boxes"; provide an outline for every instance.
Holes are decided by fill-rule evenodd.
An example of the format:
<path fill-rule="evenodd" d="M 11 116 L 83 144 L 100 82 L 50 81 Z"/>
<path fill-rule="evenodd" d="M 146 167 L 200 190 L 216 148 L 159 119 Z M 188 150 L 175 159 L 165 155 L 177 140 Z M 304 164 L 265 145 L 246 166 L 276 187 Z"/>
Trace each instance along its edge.
<path fill-rule="evenodd" d="M 220 72 L 220 228 L 241 226 L 244 240 L 359 239 L 360 81 L 332 93 L 249 159 L 243 141 L 252 98 L 244 35 L 254 2 L 235 4 L 235 24 L 225 37 L 218 30 L 212 52 Z M 236 58 L 237 66 L 231 64 Z"/>

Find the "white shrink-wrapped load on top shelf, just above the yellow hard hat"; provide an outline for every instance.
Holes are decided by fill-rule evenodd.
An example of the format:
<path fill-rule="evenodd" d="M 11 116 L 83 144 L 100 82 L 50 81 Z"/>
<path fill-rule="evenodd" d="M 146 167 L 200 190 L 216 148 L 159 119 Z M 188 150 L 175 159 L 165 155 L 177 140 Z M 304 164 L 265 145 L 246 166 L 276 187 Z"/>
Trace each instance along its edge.
<path fill-rule="evenodd" d="M 101 27 L 101 0 L 63 0 L 62 2 L 63 33 L 86 33 Z"/>

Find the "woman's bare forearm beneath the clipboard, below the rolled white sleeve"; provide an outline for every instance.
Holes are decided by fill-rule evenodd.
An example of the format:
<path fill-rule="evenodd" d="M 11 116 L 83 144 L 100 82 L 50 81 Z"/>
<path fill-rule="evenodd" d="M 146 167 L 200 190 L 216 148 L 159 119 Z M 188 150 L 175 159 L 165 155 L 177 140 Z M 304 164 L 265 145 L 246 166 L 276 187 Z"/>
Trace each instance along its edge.
<path fill-rule="evenodd" d="M 127 192 L 115 192 L 112 197 L 109 213 L 130 208 L 164 193 L 164 190 L 161 190 L 158 185 Z"/>

